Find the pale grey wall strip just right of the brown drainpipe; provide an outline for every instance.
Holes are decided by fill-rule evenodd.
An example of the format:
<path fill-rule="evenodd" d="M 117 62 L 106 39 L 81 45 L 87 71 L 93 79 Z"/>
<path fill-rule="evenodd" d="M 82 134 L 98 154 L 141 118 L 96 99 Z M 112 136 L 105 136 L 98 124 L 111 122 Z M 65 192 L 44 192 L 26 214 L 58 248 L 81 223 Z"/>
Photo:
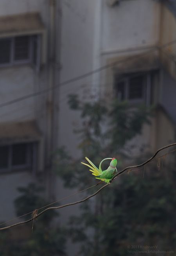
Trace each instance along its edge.
<path fill-rule="evenodd" d="M 72 83 L 62 85 L 74 77 L 90 72 L 99 66 L 99 52 L 95 34 L 97 27 L 96 16 L 101 11 L 98 9 L 99 0 L 62 0 L 61 10 L 61 56 L 60 56 L 60 82 L 59 87 L 59 138 L 58 145 L 65 145 L 69 153 L 77 158 L 80 151 L 77 149 L 79 138 L 74 134 L 74 128 L 81 127 L 79 113 L 70 110 L 67 104 L 68 94 L 79 94 L 81 101 L 90 100 L 93 88 L 93 79 L 99 83 L 99 78 L 88 76 Z M 97 36 L 97 34 L 96 34 Z M 96 49 L 95 49 L 96 48 Z M 94 80 L 94 81 L 95 81 Z M 97 81 L 98 80 L 98 81 Z M 73 190 L 65 190 L 61 180 L 55 180 L 56 198 L 70 195 Z M 81 198 L 83 195 L 80 195 Z M 69 202 L 80 197 L 71 197 Z M 63 202 L 65 203 L 65 202 Z M 79 205 L 74 208 L 63 208 L 60 211 L 63 223 L 67 223 L 70 215 L 79 215 Z M 77 245 L 68 244 L 68 255 L 75 255 Z"/>

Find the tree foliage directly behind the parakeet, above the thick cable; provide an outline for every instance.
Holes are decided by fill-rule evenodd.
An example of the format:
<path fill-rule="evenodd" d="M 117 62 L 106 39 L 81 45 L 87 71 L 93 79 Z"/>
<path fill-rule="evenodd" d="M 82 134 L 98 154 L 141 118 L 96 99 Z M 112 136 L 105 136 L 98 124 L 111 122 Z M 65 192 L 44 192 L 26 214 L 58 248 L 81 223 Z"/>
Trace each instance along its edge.
<path fill-rule="evenodd" d="M 118 158 L 120 166 L 120 159 L 129 150 L 124 150 L 125 143 L 141 133 L 144 122 L 149 123 L 149 110 L 144 106 L 129 110 L 127 102 L 112 101 L 108 107 L 103 101 L 81 104 L 77 95 L 71 95 L 68 103 L 72 109 L 80 112 L 83 120 L 82 129 L 75 130 L 80 138 L 78 147 L 83 157 L 87 156 L 97 165 L 102 158 L 113 156 Z M 138 125 L 135 125 L 136 122 Z M 63 177 L 65 186 L 85 188 L 86 184 L 92 184 L 92 176 L 88 171 L 83 171 L 85 167 L 80 164 L 83 158 L 72 159 L 64 148 L 60 148 L 56 151 L 55 159 L 58 174 Z"/>

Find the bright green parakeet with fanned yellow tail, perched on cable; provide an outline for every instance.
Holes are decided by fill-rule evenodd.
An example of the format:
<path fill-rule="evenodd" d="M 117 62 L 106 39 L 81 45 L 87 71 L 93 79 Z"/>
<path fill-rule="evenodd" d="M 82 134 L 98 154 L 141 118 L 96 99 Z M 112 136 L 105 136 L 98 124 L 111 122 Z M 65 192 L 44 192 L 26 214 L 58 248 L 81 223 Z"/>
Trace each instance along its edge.
<path fill-rule="evenodd" d="M 117 168 L 116 168 L 116 165 L 117 165 L 117 159 L 115 158 L 104 158 L 100 164 L 99 164 L 99 168 L 97 168 L 95 166 L 95 164 L 93 164 L 89 158 L 85 157 L 86 160 L 91 164 L 91 166 L 89 164 L 85 164 L 83 162 L 81 162 L 81 164 L 84 164 L 88 167 L 90 167 L 90 171 L 92 171 L 92 175 L 95 176 L 95 179 L 99 179 L 99 180 L 102 180 L 106 183 L 110 183 L 111 182 L 111 179 L 114 177 L 114 175 L 117 173 Z M 111 162 L 110 162 L 110 166 L 108 167 L 108 169 L 102 171 L 101 169 L 101 164 L 104 160 L 108 160 L 108 159 L 111 159 Z"/>

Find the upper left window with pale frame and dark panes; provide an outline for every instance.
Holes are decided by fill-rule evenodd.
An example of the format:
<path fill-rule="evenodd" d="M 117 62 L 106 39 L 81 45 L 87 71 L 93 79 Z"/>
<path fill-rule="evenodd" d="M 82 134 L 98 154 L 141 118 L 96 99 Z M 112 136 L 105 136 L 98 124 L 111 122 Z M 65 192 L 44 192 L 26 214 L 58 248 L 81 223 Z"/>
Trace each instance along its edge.
<path fill-rule="evenodd" d="M 39 61 L 40 36 L 23 35 L 0 39 L 0 66 L 32 63 Z"/>

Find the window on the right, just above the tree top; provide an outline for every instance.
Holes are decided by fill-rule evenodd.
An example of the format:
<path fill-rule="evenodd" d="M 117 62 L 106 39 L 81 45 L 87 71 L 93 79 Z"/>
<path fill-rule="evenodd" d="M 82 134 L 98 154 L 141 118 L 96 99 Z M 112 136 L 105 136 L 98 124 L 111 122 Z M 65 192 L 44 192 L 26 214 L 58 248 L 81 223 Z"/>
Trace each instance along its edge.
<path fill-rule="evenodd" d="M 117 77 L 115 89 L 120 101 L 129 100 L 131 103 L 150 105 L 153 101 L 152 91 L 154 88 L 153 77 L 158 76 L 157 71 L 133 73 Z"/>

